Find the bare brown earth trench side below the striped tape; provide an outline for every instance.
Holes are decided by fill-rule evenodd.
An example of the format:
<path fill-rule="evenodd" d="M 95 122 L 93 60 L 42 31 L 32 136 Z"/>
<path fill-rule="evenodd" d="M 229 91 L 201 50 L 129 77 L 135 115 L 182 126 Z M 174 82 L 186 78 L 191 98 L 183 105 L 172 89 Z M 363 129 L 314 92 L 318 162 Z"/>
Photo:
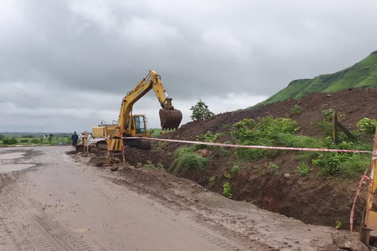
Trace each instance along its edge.
<path fill-rule="evenodd" d="M 119 156 L 120 157 L 120 156 Z M 338 180 L 323 178 L 313 174 L 301 177 L 292 172 L 297 160 L 293 154 L 282 155 L 275 163 L 280 167 L 280 175 L 275 175 L 260 161 L 260 168 L 244 166 L 237 174 L 231 174 L 230 180 L 224 174 L 230 173 L 234 164 L 232 154 L 221 157 L 215 150 L 206 156 L 210 159 L 203 170 L 189 170 L 178 177 L 188 178 L 201 186 L 222 194 L 223 184 L 232 185 L 233 200 L 250 201 L 262 209 L 281 213 L 307 224 L 332 226 L 338 222 L 343 229 L 349 229 L 350 210 L 358 180 Z M 145 164 L 148 160 L 157 165 L 162 163 L 168 169 L 174 158 L 171 151 L 154 149 L 150 151 L 127 149 L 126 160 L 131 165 Z M 94 163 L 92 163 L 94 164 Z M 288 174 L 288 175 L 287 175 Z M 213 187 L 209 177 L 215 176 Z M 365 205 L 366 186 L 360 194 L 354 216 L 354 226 L 358 229 Z"/>

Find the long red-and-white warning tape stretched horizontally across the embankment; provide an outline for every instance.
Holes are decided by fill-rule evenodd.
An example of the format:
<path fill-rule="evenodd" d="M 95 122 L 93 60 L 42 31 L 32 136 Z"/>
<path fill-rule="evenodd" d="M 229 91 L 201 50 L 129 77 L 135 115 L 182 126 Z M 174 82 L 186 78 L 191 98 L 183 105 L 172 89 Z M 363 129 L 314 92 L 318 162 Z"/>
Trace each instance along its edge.
<path fill-rule="evenodd" d="M 188 144 L 200 144 L 200 145 L 207 145 L 207 146 L 235 147 L 235 148 L 252 148 L 252 149 L 289 150 L 289 151 L 332 151 L 332 152 L 374 153 L 373 151 L 346 150 L 346 149 L 323 149 L 323 148 L 296 148 L 296 147 L 267 147 L 267 146 L 232 145 L 232 144 L 222 144 L 222 143 L 212 143 L 212 142 L 177 140 L 177 139 L 160 139 L 160 138 L 149 138 L 149 137 L 128 137 L 128 139 L 149 139 L 149 140 L 179 142 L 179 143 L 188 143 Z"/>

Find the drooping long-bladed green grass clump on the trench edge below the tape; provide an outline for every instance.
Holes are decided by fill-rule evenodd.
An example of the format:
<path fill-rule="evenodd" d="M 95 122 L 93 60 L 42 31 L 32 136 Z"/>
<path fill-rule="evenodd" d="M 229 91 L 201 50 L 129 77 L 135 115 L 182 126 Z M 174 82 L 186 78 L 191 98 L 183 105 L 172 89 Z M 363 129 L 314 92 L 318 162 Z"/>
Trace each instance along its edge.
<path fill-rule="evenodd" d="M 175 151 L 175 159 L 169 168 L 173 175 L 184 174 L 188 169 L 203 169 L 208 159 L 194 152 L 194 149 L 182 147 Z"/>

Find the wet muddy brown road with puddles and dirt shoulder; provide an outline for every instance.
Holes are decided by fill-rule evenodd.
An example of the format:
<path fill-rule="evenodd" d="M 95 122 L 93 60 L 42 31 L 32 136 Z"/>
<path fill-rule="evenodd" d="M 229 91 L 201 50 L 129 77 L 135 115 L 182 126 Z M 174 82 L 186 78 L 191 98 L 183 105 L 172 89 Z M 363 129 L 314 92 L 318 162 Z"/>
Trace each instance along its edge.
<path fill-rule="evenodd" d="M 356 236 L 70 147 L 0 149 L 1 251 L 367 250 Z"/>

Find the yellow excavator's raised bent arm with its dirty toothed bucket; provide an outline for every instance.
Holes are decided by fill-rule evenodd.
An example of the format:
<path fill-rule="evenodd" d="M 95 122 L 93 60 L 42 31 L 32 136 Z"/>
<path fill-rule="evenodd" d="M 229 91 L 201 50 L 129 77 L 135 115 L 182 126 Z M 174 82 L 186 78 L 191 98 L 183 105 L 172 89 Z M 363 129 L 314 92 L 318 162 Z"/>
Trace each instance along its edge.
<path fill-rule="evenodd" d="M 160 122 L 162 129 L 177 129 L 182 121 L 182 113 L 180 110 L 174 109 L 171 104 L 171 98 L 168 97 L 166 90 L 162 84 L 161 76 L 155 71 L 149 71 L 135 88 L 130 91 L 122 100 L 118 126 L 121 127 L 122 132 L 126 131 L 127 121 L 132 113 L 132 107 L 135 102 L 141 99 L 151 89 L 155 92 L 157 99 L 160 102 L 162 109 L 160 109 Z"/>

